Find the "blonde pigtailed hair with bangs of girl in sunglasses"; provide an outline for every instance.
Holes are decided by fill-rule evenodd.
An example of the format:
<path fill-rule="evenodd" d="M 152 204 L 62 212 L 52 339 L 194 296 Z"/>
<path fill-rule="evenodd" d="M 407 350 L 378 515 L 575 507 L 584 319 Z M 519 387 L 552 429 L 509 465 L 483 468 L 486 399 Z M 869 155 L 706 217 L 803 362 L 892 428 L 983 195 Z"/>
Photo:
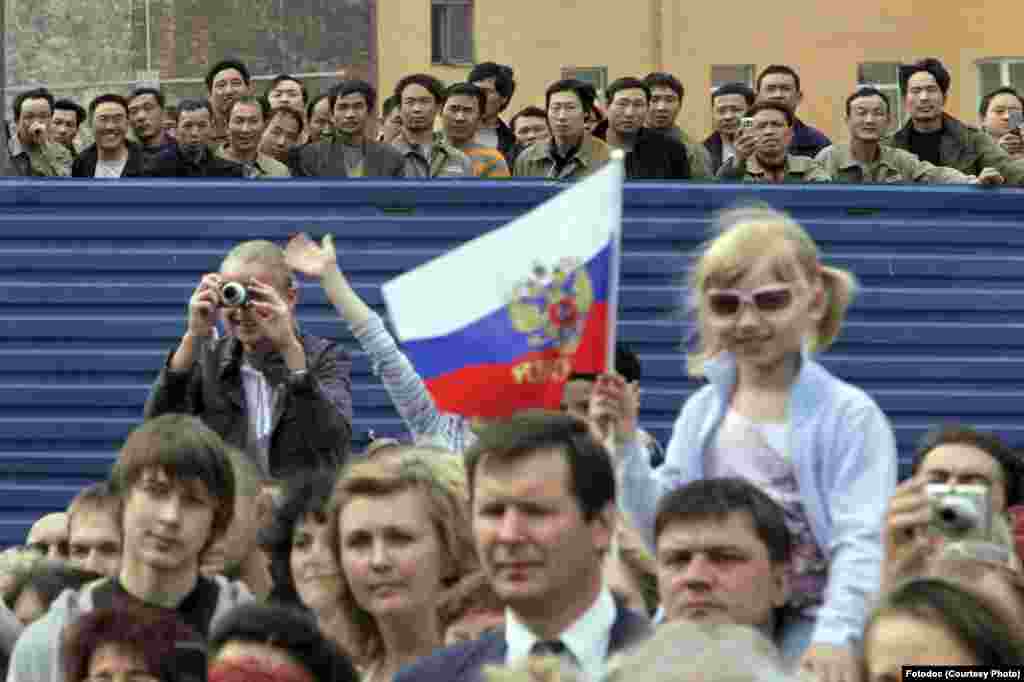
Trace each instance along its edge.
<path fill-rule="evenodd" d="M 721 350 L 709 333 L 705 309 L 708 290 L 732 286 L 766 254 L 775 256 L 779 280 L 794 282 L 803 276 L 824 289 L 825 314 L 809 339 L 810 350 L 824 350 L 836 341 L 853 301 L 856 280 L 846 270 L 822 265 L 818 247 L 807 230 L 788 215 L 767 207 L 726 211 L 715 220 L 714 229 L 717 237 L 703 246 L 689 275 L 691 304 L 700 332 L 699 348 L 687 357 L 692 376 L 702 376 L 705 363 Z M 772 246 L 767 247 L 769 244 Z M 783 245 L 788 248 L 782 249 Z"/>

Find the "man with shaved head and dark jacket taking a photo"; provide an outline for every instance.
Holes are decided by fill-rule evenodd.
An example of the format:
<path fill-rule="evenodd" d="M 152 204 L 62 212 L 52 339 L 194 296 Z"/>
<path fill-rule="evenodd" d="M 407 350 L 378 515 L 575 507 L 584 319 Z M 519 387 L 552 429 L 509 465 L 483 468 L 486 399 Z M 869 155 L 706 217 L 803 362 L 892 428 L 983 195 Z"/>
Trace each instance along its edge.
<path fill-rule="evenodd" d="M 196 415 L 272 478 L 337 467 L 350 450 L 351 361 L 337 343 L 299 331 L 297 300 L 281 248 L 231 249 L 193 293 L 145 418 Z"/>

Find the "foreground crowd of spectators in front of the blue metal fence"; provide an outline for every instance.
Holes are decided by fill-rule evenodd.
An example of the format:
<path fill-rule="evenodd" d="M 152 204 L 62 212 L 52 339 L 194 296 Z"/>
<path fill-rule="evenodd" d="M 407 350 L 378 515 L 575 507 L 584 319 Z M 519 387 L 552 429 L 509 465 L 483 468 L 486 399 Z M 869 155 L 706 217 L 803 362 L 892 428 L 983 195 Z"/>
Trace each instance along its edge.
<path fill-rule="evenodd" d="M 441 413 L 330 237 L 236 246 L 197 284 L 109 479 L 0 555 L 8 681 L 888 682 L 905 665 L 1024 665 L 1021 455 L 937 425 L 897 485 L 885 414 L 816 360 L 852 275 L 782 213 L 718 228 L 688 284 L 685 364 L 707 385 L 665 451 L 626 346 L 612 371 L 571 375 L 558 412 Z M 303 333 L 299 276 L 408 439 L 351 452 L 350 359 Z"/>

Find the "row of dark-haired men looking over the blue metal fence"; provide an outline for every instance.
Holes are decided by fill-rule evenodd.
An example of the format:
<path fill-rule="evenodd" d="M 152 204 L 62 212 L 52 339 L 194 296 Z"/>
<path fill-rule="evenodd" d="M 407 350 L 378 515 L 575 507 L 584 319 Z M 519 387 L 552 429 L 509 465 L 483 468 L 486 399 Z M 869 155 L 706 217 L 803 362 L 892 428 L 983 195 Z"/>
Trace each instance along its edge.
<path fill-rule="evenodd" d="M 245 63 L 225 59 L 206 77 L 209 97 L 175 105 L 154 87 L 105 93 L 86 109 L 45 88 L 13 102 L 7 175 L 73 177 L 540 177 L 577 179 L 626 154 L 630 179 L 742 182 L 1024 183 L 1024 97 L 986 94 L 975 127 L 945 113 L 951 77 L 934 58 L 900 69 L 908 120 L 871 85 L 846 99 L 849 141 L 833 143 L 802 121 L 800 76 L 773 65 L 756 87 L 711 94 L 714 130 L 699 142 L 678 125 L 685 88 L 668 73 L 624 77 L 598 92 L 552 83 L 544 108 L 506 122 L 514 71 L 476 65 L 466 82 L 427 74 L 400 79 L 380 102 L 360 80 L 313 96 L 283 74 L 262 95 Z M 88 126 L 95 141 L 79 148 Z"/>

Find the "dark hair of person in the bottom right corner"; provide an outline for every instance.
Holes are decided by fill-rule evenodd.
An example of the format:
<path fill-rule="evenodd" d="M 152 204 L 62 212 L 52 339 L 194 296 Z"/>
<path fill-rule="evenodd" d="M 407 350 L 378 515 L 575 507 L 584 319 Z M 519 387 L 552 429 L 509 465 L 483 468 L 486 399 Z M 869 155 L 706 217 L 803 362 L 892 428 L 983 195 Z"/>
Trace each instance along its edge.
<path fill-rule="evenodd" d="M 863 637 L 865 665 L 871 654 L 871 630 L 891 615 L 940 625 L 979 666 L 1024 664 L 1024 641 L 985 599 L 950 581 L 915 578 L 886 594 L 868 615 Z"/>

